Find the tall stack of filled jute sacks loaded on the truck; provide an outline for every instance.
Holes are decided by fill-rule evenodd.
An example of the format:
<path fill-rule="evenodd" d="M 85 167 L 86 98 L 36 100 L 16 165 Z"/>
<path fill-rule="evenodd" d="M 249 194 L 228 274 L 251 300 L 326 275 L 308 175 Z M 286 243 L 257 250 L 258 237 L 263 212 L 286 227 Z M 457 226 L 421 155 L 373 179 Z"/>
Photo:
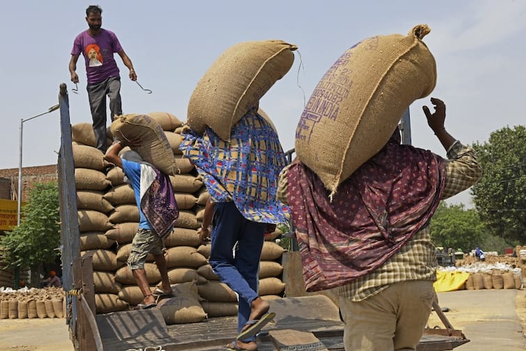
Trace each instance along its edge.
<path fill-rule="evenodd" d="M 133 124 L 154 124 L 153 121 L 155 121 L 156 125 L 150 126 L 150 130 L 158 133 L 161 128 L 171 151 L 170 155 L 165 153 L 161 160 L 155 158 L 155 153 L 150 153 L 150 163 L 157 167 L 164 167 L 165 172 L 169 174 L 180 210 L 180 216 L 173 232 L 164 239 L 167 247 L 168 274 L 176 296 L 164 299 L 159 304 L 165 321 L 168 324 L 200 322 L 206 318 L 207 313 L 213 316 L 235 314 L 230 305 L 224 308 L 212 304 L 211 311 L 209 311 L 207 297 L 210 296 L 203 297 L 200 294 L 200 285 L 208 283 L 208 279 L 199 274 L 199 271 L 203 270 L 201 267 L 208 266 L 208 255 L 205 253 L 206 249 L 203 251 L 206 245 L 201 245 L 197 229 L 201 226 L 208 192 L 194 166 L 183 157 L 178 148 L 181 142 L 180 130 L 183 122 L 167 112 L 153 112 L 147 116 L 125 115 L 119 117 L 114 123 L 123 125 L 130 121 Z M 120 126 L 117 129 L 114 126 L 109 131 L 125 130 L 127 127 Z M 72 126 L 72 130 L 83 128 L 82 124 Z M 135 128 L 145 127 L 134 126 L 132 130 Z M 84 130 L 88 134 L 93 133 L 91 128 L 84 128 Z M 125 134 L 129 136 L 130 131 L 125 131 Z M 93 257 L 97 313 L 123 311 L 139 304 L 143 299 L 126 265 L 132 239 L 139 227 L 139 209 L 135 204 L 132 188 L 124 182 L 121 168 L 108 167 L 109 164 L 104 160 L 102 152 L 93 147 L 94 137 L 93 144 L 86 145 L 82 143 L 82 140 L 91 140 L 91 137 L 76 138 L 76 135 L 80 133 L 73 133 L 72 139 L 81 255 Z M 144 140 L 143 135 L 141 134 L 141 138 Z M 146 152 L 144 154 L 148 155 Z M 160 165 L 161 161 L 164 165 Z M 279 264 L 277 262 L 281 258 L 283 249 L 275 243 L 272 244 L 277 248 L 274 246 L 272 254 L 265 257 L 272 257 L 272 260 L 276 261 L 274 263 Z M 279 255 L 276 251 L 279 252 Z M 152 256 L 148 256 L 145 269 L 148 283 L 152 289 L 155 289 L 161 278 Z M 267 276 L 264 276 L 262 280 L 265 278 L 279 280 L 281 270 L 274 267 L 274 272 L 276 276 L 270 277 L 269 273 L 266 273 Z M 277 287 L 272 287 L 268 290 L 269 294 L 271 292 L 279 294 L 284 291 L 284 284 L 281 280 L 279 283 L 274 282 L 274 285 L 279 286 L 280 291 Z M 228 294 L 233 294 L 233 292 L 228 292 Z M 215 297 L 212 299 L 215 299 L 212 302 L 217 302 Z M 203 307 L 206 307 L 206 310 Z"/>

